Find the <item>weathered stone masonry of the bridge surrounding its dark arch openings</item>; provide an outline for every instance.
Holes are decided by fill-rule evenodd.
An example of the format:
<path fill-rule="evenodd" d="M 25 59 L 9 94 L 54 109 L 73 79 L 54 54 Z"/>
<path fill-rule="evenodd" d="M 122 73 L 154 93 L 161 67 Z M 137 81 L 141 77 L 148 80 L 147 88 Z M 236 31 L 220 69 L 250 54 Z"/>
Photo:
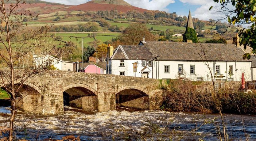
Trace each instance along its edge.
<path fill-rule="evenodd" d="M 63 92 L 74 87 L 88 90 L 89 95 L 87 97 L 81 95 L 79 98 L 81 101 L 78 100 L 82 103 L 82 109 L 85 110 L 98 110 L 99 112 L 114 110 L 116 94 L 126 89 L 139 90 L 149 97 L 149 108 L 144 106 L 143 109 L 159 109 L 161 105 L 159 101 L 162 100 L 156 97 L 162 95 L 162 91 L 158 89 L 160 83 L 165 85 L 166 82 L 165 80 L 111 74 L 47 71 L 27 80 L 26 85 L 33 88 L 34 92 L 27 93 L 23 97 L 23 109 L 26 112 L 44 115 L 63 114 Z M 79 90 L 76 93 L 80 93 Z M 78 101 L 74 102 L 79 103 Z M 141 102 L 140 99 L 134 102 L 139 101 Z"/>

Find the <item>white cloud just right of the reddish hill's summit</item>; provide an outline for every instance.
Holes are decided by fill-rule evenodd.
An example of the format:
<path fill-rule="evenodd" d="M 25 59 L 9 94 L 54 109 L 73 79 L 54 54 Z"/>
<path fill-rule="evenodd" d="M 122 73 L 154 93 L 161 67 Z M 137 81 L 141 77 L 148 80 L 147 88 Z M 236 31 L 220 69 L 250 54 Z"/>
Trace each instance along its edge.
<path fill-rule="evenodd" d="M 129 4 L 148 9 L 148 10 L 162 10 L 168 11 L 166 8 L 169 4 L 174 3 L 174 0 L 124 0 Z"/>

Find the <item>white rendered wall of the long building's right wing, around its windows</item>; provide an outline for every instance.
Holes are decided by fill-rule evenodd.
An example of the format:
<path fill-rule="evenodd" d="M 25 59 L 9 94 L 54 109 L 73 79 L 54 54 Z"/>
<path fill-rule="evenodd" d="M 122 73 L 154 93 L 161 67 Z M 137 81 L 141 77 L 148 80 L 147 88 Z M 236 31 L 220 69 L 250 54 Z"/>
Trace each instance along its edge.
<path fill-rule="evenodd" d="M 183 74 L 178 74 L 178 65 L 183 65 Z M 242 72 L 245 74 L 246 81 L 251 81 L 250 62 L 208 62 L 210 70 L 216 72 L 216 65 L 220 65 L 220 75 L 223 76 L 215 79 L 225 81 L 227 78 L 234 78 L 234 81 L 241 81 Z M 165 73 L 165 65 L 170 65 L 170 73 Z M 195 74 L 190 74 L 190 65 L 195 65 Z M 229 66 L 233 66 L 233 75 L 229 74 Z M 235 67 L 236 66 L 236 67 Z M 235 71 L 237 69 L 237 71 Z M 204 81 L 211 81 L 211 73 L 209 68 L 204 62 L 190 62 L 190 61 L 159 61 L 159 72 L 157 61 L 153 61 L 153 78 L 159 79 L 176 79 L 176 78 L 189 78 L 196 81 L 197 78 L 203 78 Z M 255 70 L 256 71 L 256 70 Z M 213 75 L 215 74 L 213 73 Z M 159 74 L 158 74 L 159 73 Z"/>

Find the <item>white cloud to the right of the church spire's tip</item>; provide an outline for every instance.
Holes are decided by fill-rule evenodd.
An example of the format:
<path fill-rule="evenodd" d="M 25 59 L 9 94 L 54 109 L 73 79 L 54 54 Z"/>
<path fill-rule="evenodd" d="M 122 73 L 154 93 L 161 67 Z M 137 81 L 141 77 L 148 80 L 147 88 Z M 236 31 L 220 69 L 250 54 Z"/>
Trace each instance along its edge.
<path fill-rule="evenodd" d="M 216 3 L 213 0 L 180 0 L 180 2 L 191 4 L 191 5 L 200 5 L 195 11 L 192 12 L 192 17 L 199 18 L 201 20 L 214 19 L 218 20 L 221 17 L 225 16 L 224 13 L 215 12 L 220 11 L 220 3 Z M 209 8 L 214 6 L 211 11 Z M 227 6 L 229 9 L 234 8 L 231 4 Z"/>

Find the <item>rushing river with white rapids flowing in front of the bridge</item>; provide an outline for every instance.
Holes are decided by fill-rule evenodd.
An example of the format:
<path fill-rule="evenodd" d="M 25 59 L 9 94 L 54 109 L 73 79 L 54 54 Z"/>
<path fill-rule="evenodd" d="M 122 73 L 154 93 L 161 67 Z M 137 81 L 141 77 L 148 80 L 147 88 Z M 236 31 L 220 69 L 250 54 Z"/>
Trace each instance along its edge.
<path fill-rule="evenodd" d="M 0 127 L 9 126 L 9 109 L 0 107 Z M 224 117 L 230 139 L 244 140 L 245 129 L 249 139 L 256 140 L 256 116 L 242 116 L 245 128 L 240 115 L 224 114 Z M 218 140 L 215 129 L 219 122 L 218 114 L 130 109 L 85 112 L 65 106 L 61 116 L 18 112 L 15 127 L 16 137 L 27 140 L 62 139 L 66 135 L 80 136 L 81 140 Z"/>

